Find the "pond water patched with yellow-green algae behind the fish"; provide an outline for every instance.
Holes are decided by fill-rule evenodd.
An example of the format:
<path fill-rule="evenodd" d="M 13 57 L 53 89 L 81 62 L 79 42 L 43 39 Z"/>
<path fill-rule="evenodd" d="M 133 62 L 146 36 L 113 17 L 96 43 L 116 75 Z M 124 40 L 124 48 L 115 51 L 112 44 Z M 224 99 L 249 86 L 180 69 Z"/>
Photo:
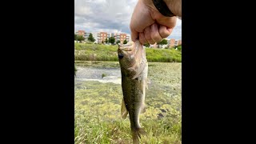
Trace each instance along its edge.
<path fill-rule="evenodd" d="M 162 65 L 162 67 L 167 67 L 170 64 L 163 63 Z M 158 67 L 150 66 L 148 75 L 152 79 L 146 90 L 146 105 L 148 109 L 151 107 L 152 110 L 144 114 L 146 118 L 163 118 L 166 114 L 170 114 L 170 110 L 181 112 L 181 89 L 179 88 L 181 81 L 178 79 L 181 74 L 178 73 L 178 70 L 170 68 L 170 71 L 165 73 L 162 71 L 163 69 L 159 70 Z M 91 106 L 94 106 L 94 103 L 104 101 L 103 99 L 96 101 L 95 98 L 103 96 L 103 98 L 107 98 L 108 104 L 112 103 L 111 105 L 115 104 L 117 107 L 120 105 L 122 100 L 120 67 L 77 66 L 77 70 L 74 86 L 79 94 L 80 90 L 85 90 L 81 94 L 83 97 L 87 95 L 86 102 L 88 101 Z M 102 78 L 102 74 L 106 74 L 106 77 Z M 179 81 L 173 81 L 175 78 Z M 159 79 L 162 79 L 163 82 Z M 170 85 L 165 85 L 166 81 L 170 82 Z M 110 100 L 110 98 L 113 99 Z M 113 111 L 115 111 L 113 115 L 119 114 L 118 110 Z"/>

